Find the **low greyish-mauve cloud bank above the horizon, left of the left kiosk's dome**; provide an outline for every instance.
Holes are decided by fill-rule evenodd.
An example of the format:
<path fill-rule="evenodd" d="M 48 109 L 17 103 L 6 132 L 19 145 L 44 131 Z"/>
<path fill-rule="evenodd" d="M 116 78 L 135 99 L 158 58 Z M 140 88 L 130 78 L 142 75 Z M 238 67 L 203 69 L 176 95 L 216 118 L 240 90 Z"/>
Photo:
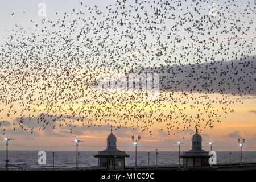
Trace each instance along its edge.
<path fill-rule="evenodd" d="M 88 135 L 88 133 L 105 133 L 110 132 L 110 125 L 102 125 L 102 126 L 94 126 L 94 125 L 75 125 L 72 123 L 72 125 L 67 126 L 59 126 L 56 122 L 61 121 L 61 119 L 71 119 L 71 120 L 79 120 L 81 121 L 82 117 L 73 117 L 70 115 L 65 115 L 62 117 L 56 116 L 56 115 L 49 115 L 49 114 L 39 114 L 35 118 L 30 117 L 24 117 L 20 118 L 17 117 L 14 119 L 14 123 L 18 124 L 19 126 L 23 126 L 24 129 L 28 129 L 27 131 L 24 129 L 20 129 L 20 127 L 16 127 L 16 130 L 13 131 L 12 129 L 9 129 L 7 132 L 14 135 L 24 135 L 24 136 L 38 136 L 39 132 L 42 132 L 43 135 L 49 136 L 49 137 L 70 137 L 71 135 Z M 10 122 L 5 121 L 2 122 L 5 123 L 5 125 L 10 126 Z M 53 126 L 55 126 L 55 129 L 53 129 Z M 33 134 L 31 134 L 31 129 L 33 128 Z M 40 131 L 39 131 L 40 128 Z M 38 131 L 38 133 L 36 133 Z M 72 131 L 72 133 L 71 133 Z M 6 133 L 7 133 L 6 132 Z M 118 137 L 130 137 L 131 135 L 139 135 L 139 129 L 138 128 L 132 128 L 132 127 L 113 127 L 113 132 Z"/>

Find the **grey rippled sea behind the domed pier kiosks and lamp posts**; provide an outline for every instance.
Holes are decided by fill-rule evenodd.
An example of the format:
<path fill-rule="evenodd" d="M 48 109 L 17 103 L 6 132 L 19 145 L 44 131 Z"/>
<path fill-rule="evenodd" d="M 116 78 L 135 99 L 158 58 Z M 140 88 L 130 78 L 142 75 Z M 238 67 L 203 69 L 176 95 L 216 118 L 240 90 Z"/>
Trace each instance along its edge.
<path fill-rule="evenodd" d="M 46 151 L 46 164 L 39 164 L 38 151 L 9 151 L 9 168 L 15 169 L 36 169 L 36 168 L 52 168 L 52 152 Z M 54 151 L 54 163 L 55 168 L 74 168 L 76 167 L 76 151 Z M 125 159 L 126 166 L 134 166 L 135 152 L 127 151 L 130 155 Z M 240 152 L 233 151 L 230 155 L 229 152 L 218 151 L 217 164 L 229 164 L 240 163 Z M 92 167 L 98 166 L 98 158 L 94 158 L 97 151 L 80 151 L 79 166 L 80 167 Z M 158 151 L 157 164 L 158 166 L 177 166 L 179 164 L 178 158 L 179 152 L 174 151 Z M 183 160 L 180 160 L 181 165 Z M 256 151 L 244 151 L 242 152 L 243 163 L 256 163 Z M 5 168 L 6 164 L 6 151 L 0 151 L 0 168 Z M 156 166 L 156 152 L 150 152 L 149 154 L 150 166 Z M 148 166 L 148 152 L 137 152 L 137 166 Z"/>

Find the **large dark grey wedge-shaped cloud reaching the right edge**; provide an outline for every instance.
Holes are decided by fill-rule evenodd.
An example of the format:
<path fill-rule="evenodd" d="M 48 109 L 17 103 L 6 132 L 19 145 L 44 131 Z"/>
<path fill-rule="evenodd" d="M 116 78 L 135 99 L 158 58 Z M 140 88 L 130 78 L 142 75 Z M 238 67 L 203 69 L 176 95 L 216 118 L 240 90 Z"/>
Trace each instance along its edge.
<path fill-rule="evenodd" d="M 248 74 L 253 73 L 255 67 L 255 58 L 251 56 L 242 63 L 239 60 L 232 60 L 215 61 L 214 63 L 203 63 L 200 65 L 167 65 L 161 68 L 142 68 L 135 72 L 158 73 L 159 89 L 162 91 L 192 91 L 236 95 L 245 95 L 246 93 L 255 96 L 255 78 L 252 78 L 251 74 Z M 195 80 L 200 84 L 192 84 L 195 83 Z M 220 82 L 222 82 L 222 84 L 219 84 Z M 226 83 L 229 83 L 229 85 Z M 239 87 L 237 85 L 239 85 Z"/>

